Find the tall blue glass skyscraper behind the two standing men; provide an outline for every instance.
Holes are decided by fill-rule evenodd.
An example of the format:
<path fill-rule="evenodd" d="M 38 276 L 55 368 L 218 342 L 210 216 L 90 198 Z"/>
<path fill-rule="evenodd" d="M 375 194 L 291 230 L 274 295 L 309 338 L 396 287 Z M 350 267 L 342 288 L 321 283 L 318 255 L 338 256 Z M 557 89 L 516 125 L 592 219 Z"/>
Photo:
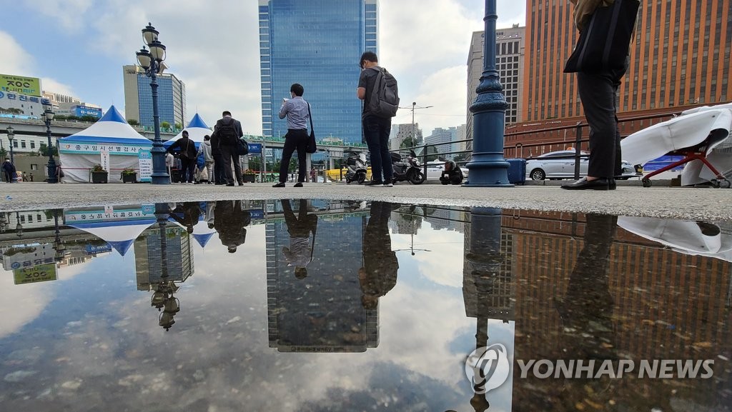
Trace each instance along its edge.
<path fill-rule="evenodd" d="M 361 143 L 359 58 L 378 53 L 378 0 L 260 0 L 262 132 L 284 136 L 283 97 L 305 87 L 318 138 Z"/>

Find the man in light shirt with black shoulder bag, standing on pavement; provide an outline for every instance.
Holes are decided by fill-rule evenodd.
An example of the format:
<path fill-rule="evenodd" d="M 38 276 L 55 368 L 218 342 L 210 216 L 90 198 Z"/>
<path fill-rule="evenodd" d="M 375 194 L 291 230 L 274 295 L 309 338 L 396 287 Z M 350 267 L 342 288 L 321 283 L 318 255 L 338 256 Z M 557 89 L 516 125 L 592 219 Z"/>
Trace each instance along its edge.
<path fill-rule="evenodd" d="M 292 153 L 297 150 L 298 174 L 295 187 L 302 187 L 305 181 L 305 156 L 307 156 L 307 142 L 310 138 L 307 135 L 307 120 L 310 119 L 310 105 L 302 98 L 305 88 L 298 83 L 290 86 L 291 99 L 283 98 L 280 107 L 280 119 L 287 117 L 287 134 L 285 135 L 285 147 L 283 148 L 282 161 L 280 162 L 280 182 L 272 187 L 285 187 L 287 171 L 290 166 Z"/>

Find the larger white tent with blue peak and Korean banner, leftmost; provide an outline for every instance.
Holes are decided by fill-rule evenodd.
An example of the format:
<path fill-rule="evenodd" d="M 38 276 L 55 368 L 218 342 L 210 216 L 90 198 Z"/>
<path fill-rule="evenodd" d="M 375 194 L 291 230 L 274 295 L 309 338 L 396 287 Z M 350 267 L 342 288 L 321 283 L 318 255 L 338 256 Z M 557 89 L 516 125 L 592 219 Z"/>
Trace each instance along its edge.
<path fill-rule="evenodd" d="M 149 181 L 152 173 L 152 141 L 127 124 L 111 106 L 96 123 L 81 132 L 59 139 L 59 156 L 64 183 L 91 181 L 90 169 L 102 165 L 109 182 L 122 181 L 125 168 L 138 172 L 138 181 Z M 141 170 L 142 169 L 142 170 Z"/>

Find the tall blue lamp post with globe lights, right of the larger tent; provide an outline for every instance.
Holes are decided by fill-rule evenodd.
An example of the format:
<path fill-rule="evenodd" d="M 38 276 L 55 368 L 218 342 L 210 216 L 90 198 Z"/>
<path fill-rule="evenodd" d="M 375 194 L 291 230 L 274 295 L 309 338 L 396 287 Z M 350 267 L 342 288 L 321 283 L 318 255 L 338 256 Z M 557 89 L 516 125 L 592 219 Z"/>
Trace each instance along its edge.
<path fill-rule="evenodd" d="M 160 115 L 157 111 L 157 75 L 163 72 L 163 60 L 165 60 L 165 46 L 157 35 L 160 34 L 151 23 L 147 23 L 145 29 L 142 29 L 142 37 L 145 47 L 135 53 L 137 55 L 138 64 L 145 70 L 145 75 L 150 78 L 150 88 L 152 89 L 152 119 L 154 121 L 155 138 L 152 141 L 152 184 L 170 184 L 171 179 L 168 175 L 168 168 L 165 167 L 165 148 L 163 140 L 160 139 Z"/>

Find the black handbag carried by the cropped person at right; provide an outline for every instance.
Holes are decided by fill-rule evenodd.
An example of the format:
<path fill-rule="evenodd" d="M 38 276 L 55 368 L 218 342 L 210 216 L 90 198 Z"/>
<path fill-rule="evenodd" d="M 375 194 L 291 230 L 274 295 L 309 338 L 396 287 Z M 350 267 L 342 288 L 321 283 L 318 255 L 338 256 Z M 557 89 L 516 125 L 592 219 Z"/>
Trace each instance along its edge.
<path fill-rule="evenodd" d="M 597 7 L 580 31 L 564 72 L 623 70 L 640 6 L 638 0 L 615 0 L 610 6 Z"/>

